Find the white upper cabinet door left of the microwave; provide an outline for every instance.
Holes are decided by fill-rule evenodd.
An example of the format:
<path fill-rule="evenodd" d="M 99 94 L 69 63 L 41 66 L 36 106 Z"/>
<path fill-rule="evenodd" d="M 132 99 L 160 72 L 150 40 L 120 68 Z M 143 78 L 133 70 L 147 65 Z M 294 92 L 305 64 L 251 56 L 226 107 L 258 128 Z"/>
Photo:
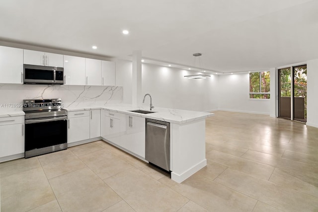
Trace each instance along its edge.
<path fill-rule="evenodd" d="M 0 83 L 23 83 L 23 49 L 0 46 Z"/>

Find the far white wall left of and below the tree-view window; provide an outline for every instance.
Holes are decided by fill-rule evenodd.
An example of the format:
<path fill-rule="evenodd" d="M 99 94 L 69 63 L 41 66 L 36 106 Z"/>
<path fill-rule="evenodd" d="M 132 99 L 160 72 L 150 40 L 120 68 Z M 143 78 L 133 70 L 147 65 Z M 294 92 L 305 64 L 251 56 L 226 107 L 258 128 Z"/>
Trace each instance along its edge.
<path fill-rule="evenodd" d="M 219 76 L 219 109 L 225 111 L 270 114 L 269 99 L 249 99 L 249 74 Z"/>

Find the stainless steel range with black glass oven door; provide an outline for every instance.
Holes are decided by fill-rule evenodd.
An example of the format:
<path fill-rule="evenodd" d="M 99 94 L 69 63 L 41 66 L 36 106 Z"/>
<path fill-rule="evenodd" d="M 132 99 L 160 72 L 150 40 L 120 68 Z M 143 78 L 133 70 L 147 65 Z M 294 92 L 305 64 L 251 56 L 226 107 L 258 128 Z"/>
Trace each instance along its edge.
<path fill-rule="evenodd" d="M 67 111 L 61 99 L 24 99 L 25 158 L 67 148 Z"/>

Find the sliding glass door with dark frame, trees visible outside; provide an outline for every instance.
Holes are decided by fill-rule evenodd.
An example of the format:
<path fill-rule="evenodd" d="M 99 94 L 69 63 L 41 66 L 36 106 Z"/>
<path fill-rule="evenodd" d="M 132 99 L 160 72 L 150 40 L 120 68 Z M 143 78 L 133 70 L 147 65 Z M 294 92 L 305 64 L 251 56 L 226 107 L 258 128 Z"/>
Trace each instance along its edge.
<path fill-rule="evenodd" d="M 278 117 L 307 121 L 307 66 L 278 70 Z"/>

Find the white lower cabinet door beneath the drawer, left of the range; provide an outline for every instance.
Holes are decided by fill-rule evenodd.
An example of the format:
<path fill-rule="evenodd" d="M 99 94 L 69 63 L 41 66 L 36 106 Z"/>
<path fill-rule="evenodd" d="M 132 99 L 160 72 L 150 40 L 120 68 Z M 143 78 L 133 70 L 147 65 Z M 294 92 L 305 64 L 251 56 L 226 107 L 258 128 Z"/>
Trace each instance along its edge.
<path fill-rule="evenodd" d="M 0 157 L 24 153 L 24 124 L 0 126 Z"/>

